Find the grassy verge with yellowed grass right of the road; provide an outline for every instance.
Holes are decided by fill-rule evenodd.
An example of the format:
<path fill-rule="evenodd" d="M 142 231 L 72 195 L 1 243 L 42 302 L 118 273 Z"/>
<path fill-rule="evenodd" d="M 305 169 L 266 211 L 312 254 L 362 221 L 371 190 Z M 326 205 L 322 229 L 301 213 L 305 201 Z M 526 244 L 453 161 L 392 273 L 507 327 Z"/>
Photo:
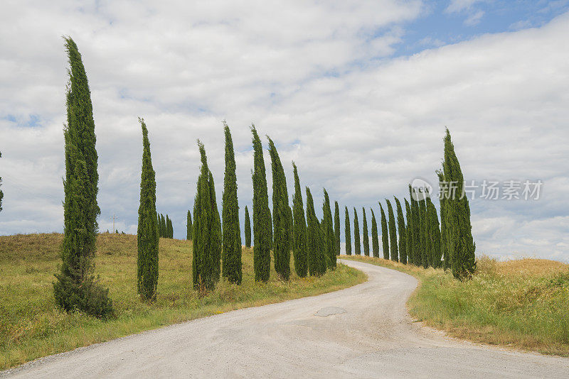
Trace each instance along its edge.
<path fill-rule="evenodd" d="M 342 256 L 344 258 L 344 256 Z M 381 258 L 351 259 L 414 275 L 412 317 L 451 336 L 569 356 L 569 265 L 553 260 L 478 259 L 472 280 Z"/>

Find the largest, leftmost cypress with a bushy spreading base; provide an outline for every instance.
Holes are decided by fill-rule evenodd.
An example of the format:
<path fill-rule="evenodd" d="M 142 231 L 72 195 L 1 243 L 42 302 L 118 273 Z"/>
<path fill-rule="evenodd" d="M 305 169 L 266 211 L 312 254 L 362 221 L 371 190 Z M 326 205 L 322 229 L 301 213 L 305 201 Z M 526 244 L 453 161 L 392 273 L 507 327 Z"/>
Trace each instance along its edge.
<path fill-rule="evenodd" d="M 55 303 L 70 312 L 79 309 L 105 317 L 112 314 L 109 290 L 96 284 L 92 258 L 97 235 L 99 174 L 95 149 L 95 121 L 87 74 L 75 42 L 65 38 L 70 69 L 65 139 L 63 248 L 60 273 L 53 283 Z"/>

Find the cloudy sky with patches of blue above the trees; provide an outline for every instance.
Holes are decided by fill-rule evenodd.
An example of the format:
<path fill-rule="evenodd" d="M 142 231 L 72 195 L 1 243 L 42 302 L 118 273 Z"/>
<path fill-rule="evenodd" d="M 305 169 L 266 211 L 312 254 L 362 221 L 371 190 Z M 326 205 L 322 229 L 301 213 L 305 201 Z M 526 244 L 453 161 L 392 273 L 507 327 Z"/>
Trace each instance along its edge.
<path fill-rule="evenodd" d="M 467 181 L 543 183 L 539 199 L 475 192 L 477 254 L 569 261 L 569 1 L 2 1 L 2 235 L 63 230 L 62 35 L 90 80 L 102 231 L 113 214 L 136 231 L 138 116 L 176 238 L 193 208 L 196 138 L 221 199 L 224 119 L 242 210 L 254 122 L 289 188 L 294 160 L 317 209 L 326 187 L 360 222 L 361 207 L 378 212 L 414 178 L 435 184 L 447 126 Z"/>

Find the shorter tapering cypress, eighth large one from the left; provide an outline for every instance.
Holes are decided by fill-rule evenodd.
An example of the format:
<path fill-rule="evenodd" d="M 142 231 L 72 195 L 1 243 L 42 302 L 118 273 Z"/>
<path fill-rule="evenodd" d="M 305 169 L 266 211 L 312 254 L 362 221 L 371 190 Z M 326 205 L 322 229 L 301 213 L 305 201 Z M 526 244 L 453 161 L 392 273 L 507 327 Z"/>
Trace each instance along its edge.
<path fill-rule="evenodd" d="M 310 276 L 320 276 L 326 273 L 326 256 L 324 234 L 316 212 L 314 212 L 314 200 L 307 190 L 307 256 L 308 256 L 308 272 Z"/>

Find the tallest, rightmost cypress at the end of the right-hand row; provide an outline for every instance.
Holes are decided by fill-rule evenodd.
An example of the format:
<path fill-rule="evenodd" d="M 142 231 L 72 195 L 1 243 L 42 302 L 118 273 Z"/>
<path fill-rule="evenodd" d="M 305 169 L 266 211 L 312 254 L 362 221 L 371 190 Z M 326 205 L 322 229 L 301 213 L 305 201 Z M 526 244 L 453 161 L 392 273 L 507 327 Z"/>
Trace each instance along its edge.
<path fill-rule="evenodd" d="M 470 223 L 470 206 L 468 197 L 460 198 L 464 188 L 464 177 L 458 162 L 454 145 L 447 128 L 445 136 L 445 158 L 442 163 L 442 172 L 445 182 L 456 185 L 454 196 L 450 194 L 445 209 L 445 227 L 447 228 L 447 248 L 451 251 L 451 270 L 454 278 L 464 280 L 470 278 L 476 270 L 476 244 L 472 238 L 472 225 Z"/>

